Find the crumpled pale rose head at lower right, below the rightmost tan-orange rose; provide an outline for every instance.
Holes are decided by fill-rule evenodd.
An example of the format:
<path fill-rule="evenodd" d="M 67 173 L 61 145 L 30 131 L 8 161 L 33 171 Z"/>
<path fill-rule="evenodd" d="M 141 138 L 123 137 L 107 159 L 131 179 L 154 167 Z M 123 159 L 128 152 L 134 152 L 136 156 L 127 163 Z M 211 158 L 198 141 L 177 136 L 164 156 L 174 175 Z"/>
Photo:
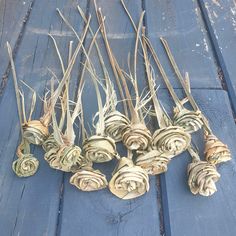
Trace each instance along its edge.
<path fill-rule="evenodd" d="M 220 174 L 215 165 L 206 161 L 197 161 L 188 166 L 188 185 L 193 194 L 211 196 L 217 191 L 215 183 Z"/>

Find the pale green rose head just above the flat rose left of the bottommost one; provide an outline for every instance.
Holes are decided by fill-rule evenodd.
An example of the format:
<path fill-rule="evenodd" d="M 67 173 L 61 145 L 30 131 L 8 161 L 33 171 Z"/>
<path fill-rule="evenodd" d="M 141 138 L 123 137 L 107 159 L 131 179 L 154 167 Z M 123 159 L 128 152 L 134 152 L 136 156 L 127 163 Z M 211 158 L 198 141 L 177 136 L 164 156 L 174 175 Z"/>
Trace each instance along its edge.
<path fill-rule="evenodd" d="M 97 163 L 110 161 L 117 155 L 115 141 L 108 136 L 91 136 L 85 140 L 83 150 L 88 159 Z"/>

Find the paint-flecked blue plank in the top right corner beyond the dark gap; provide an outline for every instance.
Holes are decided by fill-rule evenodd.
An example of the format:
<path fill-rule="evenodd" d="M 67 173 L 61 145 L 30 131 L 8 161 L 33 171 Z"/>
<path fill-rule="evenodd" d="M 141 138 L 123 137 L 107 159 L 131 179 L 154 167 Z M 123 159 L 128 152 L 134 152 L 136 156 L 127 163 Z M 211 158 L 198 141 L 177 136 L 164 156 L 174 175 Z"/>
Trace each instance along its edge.
<path fill-rule="evenodd" d="M 222 82 L 226 83 L 225 85 L 235 112 L 236 2 L 233 0 L 199 0 L 199 4 L 216 53 L 216 60 L 222 70 Z"/>

